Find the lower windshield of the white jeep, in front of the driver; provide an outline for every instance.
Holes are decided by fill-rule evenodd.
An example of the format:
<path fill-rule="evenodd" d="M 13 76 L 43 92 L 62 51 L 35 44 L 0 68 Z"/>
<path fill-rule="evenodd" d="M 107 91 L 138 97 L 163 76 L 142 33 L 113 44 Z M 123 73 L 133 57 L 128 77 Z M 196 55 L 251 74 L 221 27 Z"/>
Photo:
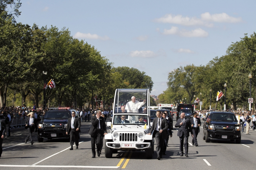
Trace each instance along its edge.
<path fill-rule="evenodd" d="M 147 116 L 145 115 L 115 115 L 114 116 L 114 125 L 125 124 L 125 125 L 148 125 Z"/>

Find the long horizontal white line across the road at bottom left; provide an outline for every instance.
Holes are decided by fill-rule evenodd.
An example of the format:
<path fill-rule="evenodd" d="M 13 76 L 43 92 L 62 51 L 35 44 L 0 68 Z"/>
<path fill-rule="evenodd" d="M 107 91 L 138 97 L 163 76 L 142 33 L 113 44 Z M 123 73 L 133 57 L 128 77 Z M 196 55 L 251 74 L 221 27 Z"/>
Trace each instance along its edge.
<path fill-rule="evenodd" d="M 0 167 L 49 167 L 49 168 L 119 168 L 120 166 L 76 166 L 76 165 L 0 165 Z"/>

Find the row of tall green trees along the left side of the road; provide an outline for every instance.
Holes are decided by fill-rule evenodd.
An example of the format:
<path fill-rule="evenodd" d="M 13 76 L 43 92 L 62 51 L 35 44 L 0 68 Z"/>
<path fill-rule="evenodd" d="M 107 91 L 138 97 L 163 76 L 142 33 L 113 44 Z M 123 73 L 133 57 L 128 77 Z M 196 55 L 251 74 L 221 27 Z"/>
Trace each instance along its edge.
<path fill-rule="evenodd" d="M 88 103 L 95 108 L 96 94 L 107 106 L 112 105 L 117 88 L 152 89 L 153 81 L 145 72 L 113 67 L 97 48 L 73 38 L 66 28 L 17 23 L 20 6 L 19 0 L 0 1 L 1 106 L 14 105 L 15 100 L 26 105 L 27 97 L 29 103 L 42 106 L 44 82 L 50 79 L 56 88 L 46 90 L 49 106 L 74 106 L 76 101 L 78 106 Z"/>

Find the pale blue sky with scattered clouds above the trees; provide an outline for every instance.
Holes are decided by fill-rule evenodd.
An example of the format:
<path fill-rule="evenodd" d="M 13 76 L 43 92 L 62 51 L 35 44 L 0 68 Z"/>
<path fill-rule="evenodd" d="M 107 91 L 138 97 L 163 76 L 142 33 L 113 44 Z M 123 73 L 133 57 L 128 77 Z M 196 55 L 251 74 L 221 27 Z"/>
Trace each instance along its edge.
<path fill-rule="evenodd" d="M 154 95 L 166 90 L 170 71 L 225 55 L 256 25 L 255 1 L 21 2 L 17 22 L 69 28 L 115 67 L 145 71 L 154 82 Z"/>

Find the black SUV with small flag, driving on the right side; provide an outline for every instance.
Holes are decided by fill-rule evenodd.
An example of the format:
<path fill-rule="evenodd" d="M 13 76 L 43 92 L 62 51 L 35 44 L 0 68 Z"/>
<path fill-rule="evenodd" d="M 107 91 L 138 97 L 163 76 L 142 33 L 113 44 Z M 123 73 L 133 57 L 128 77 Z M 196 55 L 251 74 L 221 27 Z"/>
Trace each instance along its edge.
<path fill-rule="evenodd" d="M 208 112 L 203 120 L 205 121 L 203 131 L 205 142 L 210 142 L 210 139 L 230 139 L 241 143 L 241 128 L 233 113 Z"/>

